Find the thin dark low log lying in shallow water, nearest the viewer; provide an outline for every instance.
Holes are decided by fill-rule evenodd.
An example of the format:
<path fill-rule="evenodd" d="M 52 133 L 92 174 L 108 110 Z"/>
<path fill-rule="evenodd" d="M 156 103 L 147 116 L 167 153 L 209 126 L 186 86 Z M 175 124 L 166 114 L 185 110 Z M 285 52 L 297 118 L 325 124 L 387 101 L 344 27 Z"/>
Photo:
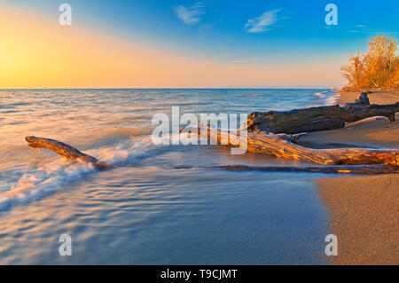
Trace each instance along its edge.
<path fill-rule="evenodd" d="M 267 172 L 314 172 L 334 174 L 399 174 L 399 167 L 394 165 L 348 165 L 348 166 L 248 166 L 219 165 L 203 166 L 204 168 L 220 168 L 232 171 L 267 171 Z"/>

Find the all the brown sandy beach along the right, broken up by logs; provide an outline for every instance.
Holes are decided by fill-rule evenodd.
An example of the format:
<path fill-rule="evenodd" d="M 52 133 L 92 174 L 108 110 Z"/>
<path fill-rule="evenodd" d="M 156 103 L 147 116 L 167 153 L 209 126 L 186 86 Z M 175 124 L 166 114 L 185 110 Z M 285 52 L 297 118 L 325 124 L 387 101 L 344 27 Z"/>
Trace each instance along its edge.
<path fill-rule="evenodd" d="M 339 103 L 353 102 L 359 92 L 340 93 Z M 399 92 L 369 94 L 372 104 L 399 101 Z M 398 115 L 396 115 L 398 119 Z M 309 133 L 301 143 L 370 145 L 399 148 L 399 122 L 374 117 L 345 128 Z M 330 232 L 338 237 L 334 264 L 399 264 L 399 175 L 332 177 L 317 181 L 330 213 Z"/>

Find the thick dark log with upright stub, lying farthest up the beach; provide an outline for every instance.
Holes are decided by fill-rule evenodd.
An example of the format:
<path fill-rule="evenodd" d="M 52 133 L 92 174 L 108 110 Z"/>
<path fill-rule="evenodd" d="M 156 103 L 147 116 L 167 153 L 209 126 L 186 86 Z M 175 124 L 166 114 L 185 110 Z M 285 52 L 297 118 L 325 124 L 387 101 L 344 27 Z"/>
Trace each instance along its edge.
<path fill-rule="evenodd" d="M 345 122 L 356 122 L 373 116 L 384 116 L 395 121 L 399 102 L 390 105 L 370 105 L 363 92 L 355 103 L 346 106 L 319 106 L 290 111 L 253 112 L 246 120 L 247 130 L 255 133 L 297 134 L 345 127 Z"/>

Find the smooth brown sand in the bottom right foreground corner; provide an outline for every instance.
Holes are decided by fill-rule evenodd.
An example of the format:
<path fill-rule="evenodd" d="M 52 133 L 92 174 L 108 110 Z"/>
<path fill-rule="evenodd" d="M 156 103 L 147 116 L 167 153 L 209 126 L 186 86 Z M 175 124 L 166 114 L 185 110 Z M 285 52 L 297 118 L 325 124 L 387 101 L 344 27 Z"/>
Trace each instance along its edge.
<path fill-rule="evenodd" d="M 399 175 L 317 180 L 337 235 L 334 264 L 399 264 Z"/>

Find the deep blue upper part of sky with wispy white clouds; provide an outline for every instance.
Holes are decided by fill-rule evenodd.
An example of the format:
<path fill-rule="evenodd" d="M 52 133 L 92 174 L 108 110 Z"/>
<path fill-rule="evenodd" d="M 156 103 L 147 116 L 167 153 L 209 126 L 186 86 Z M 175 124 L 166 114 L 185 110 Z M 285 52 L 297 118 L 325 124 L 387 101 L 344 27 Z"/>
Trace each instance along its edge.
<path fill-rule="evenodd" d="M 4 1 L 4 0 L 3 0 Z M 54 19 L 71 4 L 74 26 L 198 59 L 245 64 L 340 60 L 374 35 L 398 39 L 399 1 L 5 0 Z M 325 5 L 338 26 L 325 24 Z M 335 82 L 334 82 L 335 83 Z"/>

